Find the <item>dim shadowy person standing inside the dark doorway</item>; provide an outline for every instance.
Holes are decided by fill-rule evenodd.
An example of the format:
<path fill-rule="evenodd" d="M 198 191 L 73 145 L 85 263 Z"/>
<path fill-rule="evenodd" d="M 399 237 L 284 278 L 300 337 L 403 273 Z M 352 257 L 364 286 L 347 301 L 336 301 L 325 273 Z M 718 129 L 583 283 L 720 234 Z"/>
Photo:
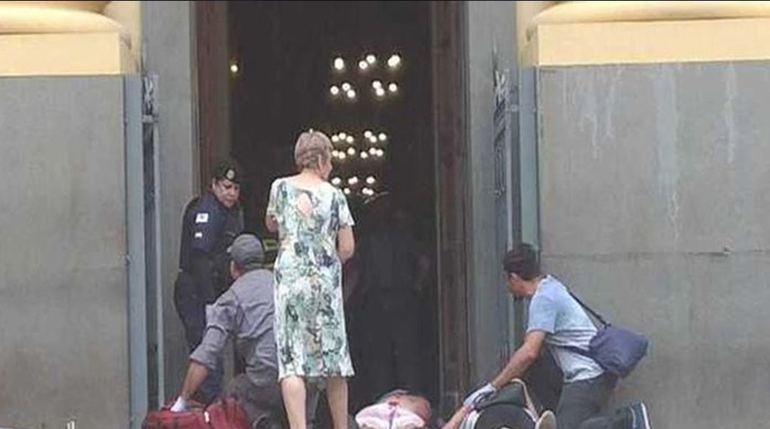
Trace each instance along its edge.
<path fill-rule="evenodd" d="M 361 305 L 354 321 L 366 366 L 363 391 L 374 400 L 383 391 L 424 389 L 420 359 L 420 286 L 428 262 L 421 255 L 409 216 L 388 193 L 367 203 L 368 228 L 359 233 L 356 257 Z"/>

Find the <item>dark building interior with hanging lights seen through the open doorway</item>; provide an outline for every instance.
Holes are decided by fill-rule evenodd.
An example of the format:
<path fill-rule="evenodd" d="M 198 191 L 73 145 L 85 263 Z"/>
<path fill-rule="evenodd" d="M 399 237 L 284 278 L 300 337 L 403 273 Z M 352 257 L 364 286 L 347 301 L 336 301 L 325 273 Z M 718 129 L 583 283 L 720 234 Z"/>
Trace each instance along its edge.
<path fill-rule="evenodd" d="M 366 281 L 360 279 L 365 275 L 355 277 L 359 281 L 346 301 L 356 371 L 350 382 L 351 413 L 395 388 L 420 391 L 434 404 L 438 400 L 435 148 L 428 7 L 427 2 L 229 4 L 229 50 L 231 64 L 237 67 L 232 70 L 230 85 L 232 155 L 243 165 L 247 177 L 241 193 L 246 229 L 269 237 L 263 215 L 270 183 L 295 172 L 295 140 L 301 131 L 311 128 L 336 140 L 332 183 L 347 189 L 357 242 L 365 243 L 367 234 L 373 234 L 384 222 L 383 215 L 375 213 L 377 206 L 386 207 L 386 217 L 398 217 L 411 226 L 408 246 L 412 250 L 406 251 L 410 259 L 401 257 L 398 266 L 404 266 L 406 272 L 406 265 L 419 265 L 424 272 L 422 280 L 414 276 L 406 280 L 415 284 L 411 292 L 400 295 L 395 313 L 382 315 L 379 322 L 373 322 L 377 326 L 362 319 L 368 292 Z M 391 216 L 395 213 L 399 215 Z M 400 236 L 394 233 L 392 237 Z M 353 273 L 355 269 L 346 266 L 345 275 L 352 279 Z M 351 279 L 346 277 L 346 284 Z M 403 279 L 408 277 L 391 276 L 393 282 Z M 398 311 L 407 311 L 407 307 L 415 317 L 404 319 L 419 329 L 408 330 L 394 322 L 402 318 Z M 396 374 L 397 370 L 384 381 L 373 381 L 381 374 L 372 374 L 373 357 L 366 357 L 362 349 L 371 341 L 387 342 L 372 338 L 382 329 L 395 333 L 397 340 L 392 341 L 405 336 L 405 330 L 418 332 L 417 355 L 409 364 L 414 370 L 410 374 L 415 375 L 409 381 Z"/>

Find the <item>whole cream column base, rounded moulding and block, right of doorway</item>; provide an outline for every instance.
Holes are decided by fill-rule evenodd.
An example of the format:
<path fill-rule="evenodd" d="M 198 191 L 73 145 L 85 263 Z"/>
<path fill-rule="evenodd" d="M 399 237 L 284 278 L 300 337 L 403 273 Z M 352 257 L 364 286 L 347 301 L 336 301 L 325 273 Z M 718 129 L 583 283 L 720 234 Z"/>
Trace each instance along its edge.
<path fill-rule="evenodd" d="M 672 63 L 770 58 L 770 2 L 518 2 L 523 63 Z"/>

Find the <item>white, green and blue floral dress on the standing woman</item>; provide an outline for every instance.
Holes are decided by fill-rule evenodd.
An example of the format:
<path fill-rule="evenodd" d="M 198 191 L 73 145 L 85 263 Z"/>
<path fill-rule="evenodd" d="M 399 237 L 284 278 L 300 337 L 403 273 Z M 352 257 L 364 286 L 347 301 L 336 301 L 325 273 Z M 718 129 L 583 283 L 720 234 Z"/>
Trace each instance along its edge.
<path fill-rule="evenodd" d="M 353 226 L 345 195 L 327 182 L 273 181 L 267 214 L 278 223 L 275 334 L 278 379 L 349 377 L 337 233 Z"/>

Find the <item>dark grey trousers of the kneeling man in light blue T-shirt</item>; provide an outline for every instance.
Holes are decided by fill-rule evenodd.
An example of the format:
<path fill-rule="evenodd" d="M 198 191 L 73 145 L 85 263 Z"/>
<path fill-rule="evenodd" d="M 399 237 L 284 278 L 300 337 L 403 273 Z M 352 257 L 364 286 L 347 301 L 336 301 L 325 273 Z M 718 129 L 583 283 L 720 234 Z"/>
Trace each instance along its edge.
<path fill-rule="evenodd" d="M 622 412 L 602 414 L 616 382 L 612 375 L 603 374 L 590 380 L 565 383 L 556 408 L 559 429 L 625 428 L 626 416 Z"/>

